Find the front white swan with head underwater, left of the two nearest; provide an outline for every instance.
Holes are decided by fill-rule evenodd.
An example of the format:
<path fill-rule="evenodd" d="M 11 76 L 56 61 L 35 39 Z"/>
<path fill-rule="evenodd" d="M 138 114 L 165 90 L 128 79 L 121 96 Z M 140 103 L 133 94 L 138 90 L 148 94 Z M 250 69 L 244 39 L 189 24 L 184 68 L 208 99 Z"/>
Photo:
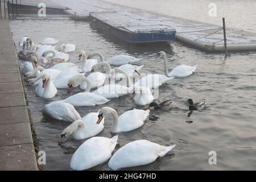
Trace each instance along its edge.
<path fill-rule="evenodd" d="M 106 162 L 112 156 L 118 136 L 112 138 L 93 137 L 86 140 L 77 148 L 70 162 L 75 170 L 89 169 Z"/>

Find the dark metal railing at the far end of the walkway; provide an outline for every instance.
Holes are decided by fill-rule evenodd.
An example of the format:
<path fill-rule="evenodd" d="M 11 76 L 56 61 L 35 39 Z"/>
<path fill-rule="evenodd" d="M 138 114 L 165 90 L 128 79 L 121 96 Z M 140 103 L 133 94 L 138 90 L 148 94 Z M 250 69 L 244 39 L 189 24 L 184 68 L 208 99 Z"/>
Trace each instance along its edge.
<path fill-rule="evenodd" d="M 18 16 L 18 0 L 0 0 L 0 18 L 10 19 Z"/>

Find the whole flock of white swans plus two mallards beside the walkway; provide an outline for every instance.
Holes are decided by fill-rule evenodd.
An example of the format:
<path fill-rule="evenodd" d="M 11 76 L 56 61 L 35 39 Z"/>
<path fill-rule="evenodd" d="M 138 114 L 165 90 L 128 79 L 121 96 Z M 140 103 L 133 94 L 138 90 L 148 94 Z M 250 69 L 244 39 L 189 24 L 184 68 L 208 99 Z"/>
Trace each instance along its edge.
<path fill-rule="evenodd" d="M 58 89 L 66 88 L 70 93 L 79 87 L 84 92 L 79 92 L 65 98 L 53 101 L 44 106 L 44 111 L 60 121 L 71 122 L 61 133 L 59 142 L 67 141 L 68 137 L 85 140 L 73 154 L 70 167 L 75 170 L 89 169 L 98 164 L 108 161 L 108 166 L 113 169 L 141 166 L 154 162 L 170 152 L 172 146 L 161 146 L 148 140 L 135 140 L 119 148 L 113 156 L 112 153 L 118 141 L 118 135 L 112 138 L 94 137 L 104 129 L 104 118 L 112 116 L 111 133 L 128 132 L 138 129 L 150 113 L 150 109 L 172 109 L 172 100 L 160 104 L 154 102 L 152 90 L 174 77 L 187 77 L 192 75 L 197 68 L 188 65 L 179 65 L 168 73 L 166 53 L 160 51 L 156 57 L 164 60 L 164 75 L 149 74 L 142 77 L 140 73 L 144 65 L 137 66 L 142 59 L 127 55 L 117 55 L 105 61 L 100 52 L 86 54 L 81 51 L 79 60 L 81 64 L 69 63 L 68 52 L 75 51 L 75 44 L 61 44 L 56 47 L 57 40 L 53 38 L 43 39 L 40 44 L 34 44 L 29 37 L 23 37 L 19 41 L 22 51 L 18 52 L 20 67 L 24 79 L 36 85 L 35 93 L 38 97 L 53 98 Z M 100 60 L 94 59 L 95 56 Z M 113 65 L 112 68 L 110 65 Z M 104 67 L 105 72 L 100 68 Z M 86 73 L 89 72 L 89 73 Z M 85 74 L 89 74 L 85 77 Z M 137 78 L 133 83 L 131 78 Z M 121 80 L 121 81 L 120 81 Z M 110 82 L 109 82 L 110 81 Z M 118 81 L 118 82 L 117 82 Z M 90 92 L 94 89 L 93 92 Z M 104 106 L 96 112 L 89 113 L 84 117 L 76 111 L 74 106 L 96 106 L 109 102 L 112 98 L 132 94 L 136 105 L 149 105 L 147 110 L 132 109 L 117 114 L 112 107 Z M 193 103 L 188 100 L 189 109 L 201 110 L 205 102 Z"/>

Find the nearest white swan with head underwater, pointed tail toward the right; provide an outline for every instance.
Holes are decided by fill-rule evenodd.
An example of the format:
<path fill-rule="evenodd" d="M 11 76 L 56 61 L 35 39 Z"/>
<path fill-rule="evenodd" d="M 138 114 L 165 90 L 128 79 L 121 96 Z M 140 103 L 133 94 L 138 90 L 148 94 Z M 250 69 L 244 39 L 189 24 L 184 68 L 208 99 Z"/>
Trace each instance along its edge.
<path fill-rule="evenodd" d="M 175 146 L 166 147 L 148 140 L 135 140 L 119 148 L 109 160 L 108 166 L 117 170 L 149 164 L 166 155 Z"/>

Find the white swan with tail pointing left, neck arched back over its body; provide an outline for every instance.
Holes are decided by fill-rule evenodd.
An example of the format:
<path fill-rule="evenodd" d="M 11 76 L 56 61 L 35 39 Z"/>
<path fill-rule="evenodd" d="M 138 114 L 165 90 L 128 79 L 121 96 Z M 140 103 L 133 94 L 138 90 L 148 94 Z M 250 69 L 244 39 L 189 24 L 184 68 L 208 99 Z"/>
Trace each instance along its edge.
<path fill-rule="evenodd" d="M 64 99 L 64 100 L 55 101 L 55 102 L 65 102 L 65 103 L 72 104 L 73 106 L 96 106 L 96 105 L 105 104 L 106 102 L 109 101 L 105 97 L 97 96 L 96 94 L 89 92 L 90 81 L 88 80 L 88 78 L 82 76 L 80 78 L 76 77 L 76 79 L 80 79 L 80 81 L 86 81 L 87 88 L 86 88 L 85 92 L 77 93 L 73 96 L 70 96 L 70 97 Z M 73 89 L 73 87 L 78 86 L 77 85 L 78 82 L 79 81 L 74 81 L 72 79 L 71 82 L 69 82 L 69 84 L 68 84 L 69 88 Z"/>

